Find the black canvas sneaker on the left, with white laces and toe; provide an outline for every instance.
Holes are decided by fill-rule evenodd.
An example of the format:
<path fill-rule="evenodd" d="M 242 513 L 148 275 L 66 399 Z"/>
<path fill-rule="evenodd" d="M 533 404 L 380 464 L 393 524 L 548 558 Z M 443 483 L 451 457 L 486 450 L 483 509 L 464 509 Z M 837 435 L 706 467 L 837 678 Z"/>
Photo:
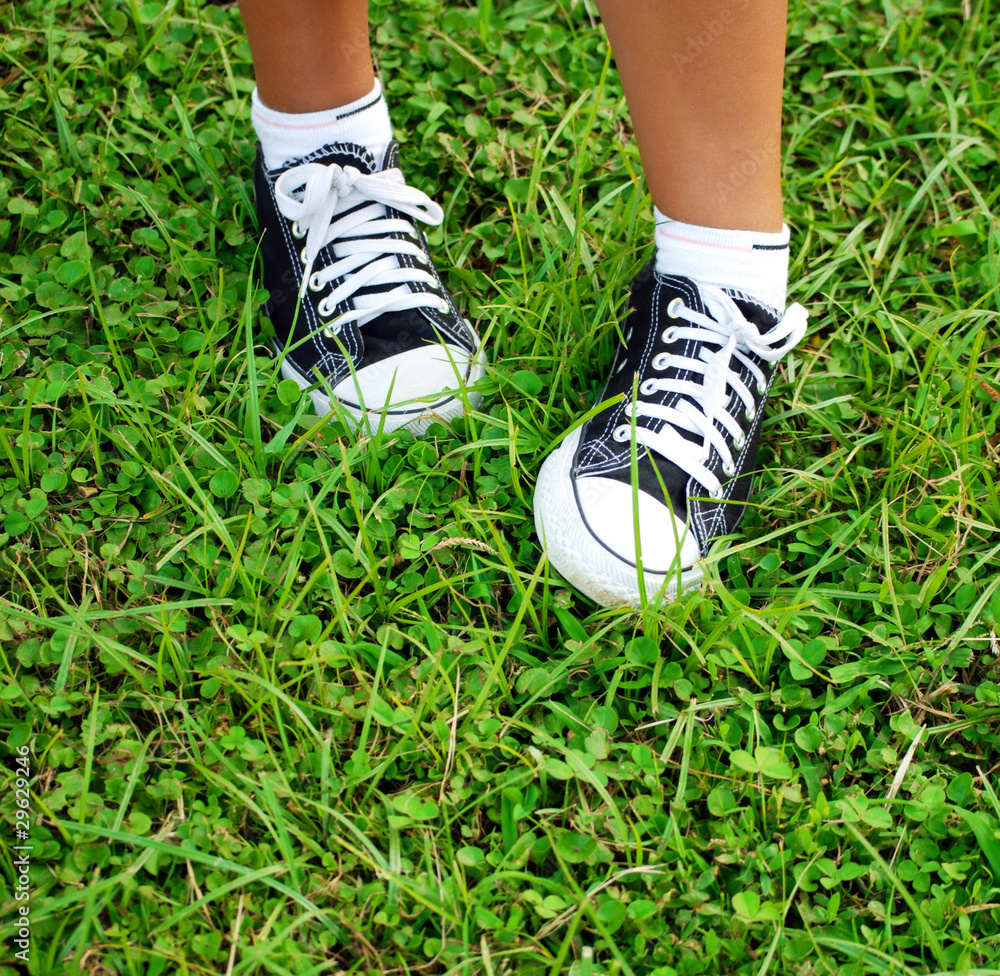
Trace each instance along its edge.
<path fill-rule="evenodd" d="M 421 433 L 460 415 L 484 372 L 479 338 L 439 277 L 417 222 L 441 208 L 407 186 L 396 143 L 376 161 L 334 144 L 254 172 L 266 314 L 282 373 L 317 413 Z"/>

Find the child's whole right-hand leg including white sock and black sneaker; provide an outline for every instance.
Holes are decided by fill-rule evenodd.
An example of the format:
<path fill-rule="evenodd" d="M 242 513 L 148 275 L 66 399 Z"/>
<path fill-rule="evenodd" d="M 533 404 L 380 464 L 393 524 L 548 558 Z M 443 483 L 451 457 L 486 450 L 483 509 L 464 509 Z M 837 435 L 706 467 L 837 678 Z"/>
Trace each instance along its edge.
<path fill-rule="evenodd" d="M 598 7 L 656 205 L 656 257 L 600 397 L 614 405 L 546 460 L 535 521 L 552 564 L 611 605 L 696 584 L 711 541 L 736 527 L 805 310 L 785 310 L 785 0 Z"/>

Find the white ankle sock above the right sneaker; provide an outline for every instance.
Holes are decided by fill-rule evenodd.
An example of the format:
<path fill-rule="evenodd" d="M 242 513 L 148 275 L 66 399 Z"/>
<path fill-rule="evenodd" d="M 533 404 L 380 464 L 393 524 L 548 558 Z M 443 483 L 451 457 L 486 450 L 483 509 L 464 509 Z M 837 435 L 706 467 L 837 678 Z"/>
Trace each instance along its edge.
<path fill-rule="evenodd" d="M 782 315 L 788 293 L 787 225 L 779 234 L 671 220 L 654 207 L 656 270 L 743 292 Z"/>

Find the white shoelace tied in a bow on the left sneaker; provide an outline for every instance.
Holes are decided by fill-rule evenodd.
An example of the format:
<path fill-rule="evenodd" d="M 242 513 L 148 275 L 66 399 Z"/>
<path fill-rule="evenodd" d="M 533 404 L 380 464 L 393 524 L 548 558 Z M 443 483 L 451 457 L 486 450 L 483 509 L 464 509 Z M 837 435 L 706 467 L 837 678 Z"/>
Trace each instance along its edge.
<path fill-rule="evenodd" d="M 353 299 L 350 311 L 322 323 L 324 334 L 336 335 L 352 321 L 364 325 L 385 312 L 410 308 L 448 310 L 448 303 L 439 294 L 419 288 L 436 288 L 434 275 L 402 267 L 398 260 L 400 255 L 409 255 L 421 264 L 429 263 L 416 243 L 418 235 L 413 224 L 387 217 L 386 206 L 427 224 L 437 225 L 444 219 L 444 211 L 426 193 L 406 185 L 400 170 L 368 175 L 353 166 L 303 163 L 278 177 L 274 195 L 281 213 L 294 221 L 292 235 L 305 238 L 300 297 L 307 288 L 321 291 L 330 282 L 344 278 L 318 303 L 319 314 L 333 315 L 341 302 Z M 358 209 L 346 213 L 353 207 Z M 343 216 L 337 220 L 339 214 Z M 393 233 L 406 234 L 408 239 L 384 236 Z M 320 250 L 334 241 L 338 242 L 334 248 L 337 260 L 313 271 Z M 366 287 L 379 290 L 357 294 Z"/>

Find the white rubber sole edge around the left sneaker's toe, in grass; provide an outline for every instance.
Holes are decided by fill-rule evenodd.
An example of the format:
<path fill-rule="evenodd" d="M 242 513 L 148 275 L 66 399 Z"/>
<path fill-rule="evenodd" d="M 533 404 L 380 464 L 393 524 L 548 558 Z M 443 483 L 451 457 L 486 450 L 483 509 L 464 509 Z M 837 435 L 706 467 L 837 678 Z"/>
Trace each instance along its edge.
<path fill-rule="evenodd" d="M 478 341 L 478 336 L 476 338 Z M 456 383 L 456 389 L 443 391 L 440 399 L 431 402 L 427 402 L 428 398 L 425 397 L 420 400 L 390 404 L 388 407 L 371 410 L 362 410 L 359 406 L 344 400 L 336 402 L 354 420 L 356 427 L 364 426 L 369 433 L 374 433 L 381 426 L 385 433 L 406 428 L 419 436 L 425 433 L 433 423 L 447 423 L 456 417 L 461 417 L 466 411 L 466 404 L 471 409 L 479 406 L 483 399 L 482 395 L 468 389 L 468 387 L 473 386 L 477 380 L 486 375 L 486 363 L 485 350 L 479 348 L 475 358 L 469 361 L 465 376 Z M 319 416 L 322 417 L 333 412 L 333 401 L 328 390 L 322 387 L 310 389 L 310 387 L 316 386 L 315 379 L 304 376 L 287 359 L 281 363 L 281 375 L 286 379 L 295 380 L 302 390 L 308 391 L 313 408 Z M 465 391 L 464 396 L 459 395 L 461 390 Z"/>

